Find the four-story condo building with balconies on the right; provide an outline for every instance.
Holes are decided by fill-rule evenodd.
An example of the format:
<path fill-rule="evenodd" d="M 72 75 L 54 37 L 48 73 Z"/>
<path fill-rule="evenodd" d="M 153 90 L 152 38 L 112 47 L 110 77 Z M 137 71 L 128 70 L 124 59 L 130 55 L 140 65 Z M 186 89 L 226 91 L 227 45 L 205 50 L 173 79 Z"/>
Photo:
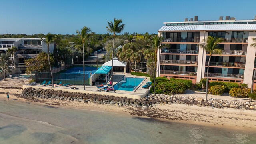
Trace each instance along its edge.
<path fill-rule="evenodd" d="M 166 48 L 158 50 L 157 76 L 190 79 L 194 83 L 206 78 L 209 54 L 198 44 L 208 36 L 222 38 L 222 54 L 213 54 L 209 66 L 210 81 L 246 83 L 251 86 L 255 66 L 256 38 L 254 20 L 236 20 L 220 16 L 219 20 L 198 21 L 195 16 L 184 22 L 164 22 L 158 35 Z"/>

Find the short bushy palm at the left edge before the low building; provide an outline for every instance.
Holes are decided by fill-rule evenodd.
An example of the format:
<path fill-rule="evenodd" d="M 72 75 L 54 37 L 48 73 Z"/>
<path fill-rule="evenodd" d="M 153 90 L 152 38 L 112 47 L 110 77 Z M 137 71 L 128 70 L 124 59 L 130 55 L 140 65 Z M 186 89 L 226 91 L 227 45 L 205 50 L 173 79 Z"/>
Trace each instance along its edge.
<path fill-rule="evenodd" d="M 6 80 L 7 72 L 10 72 L 9 65 L 12 64 L 9 54 L 0 54 L 0 72 L 3 79 Z"/>

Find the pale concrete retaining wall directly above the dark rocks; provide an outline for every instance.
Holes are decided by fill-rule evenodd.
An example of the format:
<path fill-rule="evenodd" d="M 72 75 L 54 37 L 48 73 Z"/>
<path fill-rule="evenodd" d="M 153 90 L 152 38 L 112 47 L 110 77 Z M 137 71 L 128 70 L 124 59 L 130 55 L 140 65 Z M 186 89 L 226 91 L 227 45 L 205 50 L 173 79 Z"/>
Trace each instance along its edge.
<path fill-rule="evenodd" d="M 114 92 L 99 92 L 99 91 L 91 91 L 91 90 L 74 90 L 68 88 L 56 88 L 56 87 L 44 87 L 44 86 L 31 86 L 31 85 L 22 85 L 23 89 L 25 88 L 41 88 L 41 89 L 53 89 L 53 90 L 62 90 L 67 92 L 80 92 L 80 93 L 89 93 L 89 94 L 101 94 L 101 95 L 109 95 L 109 96 L 116 96 L 116 97 L 127 97 L 132 99 L 140 99 L 144 98 L 149 94 L 147 90 L 144 94 L 123 94 L 123 93 L 114 93 Z"/>

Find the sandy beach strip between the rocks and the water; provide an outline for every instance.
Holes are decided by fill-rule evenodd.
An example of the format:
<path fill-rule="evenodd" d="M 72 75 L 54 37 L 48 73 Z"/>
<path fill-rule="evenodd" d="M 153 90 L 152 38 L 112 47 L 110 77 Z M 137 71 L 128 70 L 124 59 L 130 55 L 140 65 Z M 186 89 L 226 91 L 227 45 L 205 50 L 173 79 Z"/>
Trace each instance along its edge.
<path fill-rule="evenodd" d="M 132 108 L 124 106 L 115 106 L 111 104 L 96 104 L 93 102 L 76 102 L 63 100 L 28 100 L 18 98 L 15 95 L 20 94 L 18 89 L 0 88 L 0 100 L 5 100 L 5 92 L 10 92 L 10 101 L 18 100 L 20 102 L 31 102 L 42 106 L 54 106 L 58 108 L 74 108 L 82 110 L 96 110 L 100 112 L 118 113 L 130 117 L 146 118 L 160 120 L 162 122 L 174 122 L 183 124 L 193 124 L 212 128 L 224 128 L 230 130 L 256 131 L 256 112 L 252 110 L 211 109 L 198 107 L 196 105 L 188 106 L 184 104 L 156 105 L 154 108 Z"/>

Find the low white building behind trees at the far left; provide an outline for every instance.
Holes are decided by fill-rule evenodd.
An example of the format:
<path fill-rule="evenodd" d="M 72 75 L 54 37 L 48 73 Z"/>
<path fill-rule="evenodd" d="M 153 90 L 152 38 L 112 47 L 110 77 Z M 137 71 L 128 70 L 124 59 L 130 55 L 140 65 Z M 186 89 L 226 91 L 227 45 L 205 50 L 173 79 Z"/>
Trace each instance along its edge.
<path fill-rule="evenodd" d="M 12 56 L 14 72 L 25 72 L 24 60 L 35 58 L 40 52 L 47 52 L 47 44 L 41 38 L 0 38 L 0 53 L 6 53 L 8 48 L 16 47 L 18 51 Z M 53 52 L 54 44 L 49 51 Z"/>

